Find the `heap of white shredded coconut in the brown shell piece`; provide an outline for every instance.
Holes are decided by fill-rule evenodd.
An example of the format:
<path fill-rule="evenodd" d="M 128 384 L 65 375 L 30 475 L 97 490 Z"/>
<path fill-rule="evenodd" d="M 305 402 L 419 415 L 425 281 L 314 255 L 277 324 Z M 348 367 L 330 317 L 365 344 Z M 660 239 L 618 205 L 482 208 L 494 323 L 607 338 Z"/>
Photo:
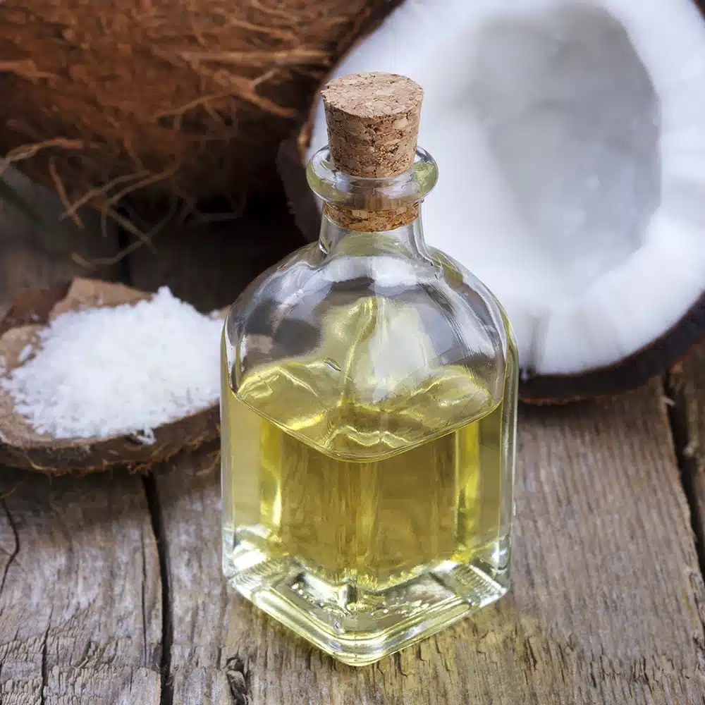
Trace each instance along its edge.
<path fill-rule="evenodd" d="M 166 287 L 149 301 L 68 312 L 0 386 L 39 433 L 153 443 L 156 427 L 218 400 L 222 326 Z"/>

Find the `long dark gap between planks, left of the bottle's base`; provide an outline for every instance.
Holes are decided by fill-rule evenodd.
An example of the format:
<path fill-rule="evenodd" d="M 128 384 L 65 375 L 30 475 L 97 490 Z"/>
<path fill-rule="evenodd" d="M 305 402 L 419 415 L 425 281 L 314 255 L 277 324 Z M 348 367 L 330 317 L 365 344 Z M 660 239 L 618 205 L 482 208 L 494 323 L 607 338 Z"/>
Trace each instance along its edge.
<path fill-rule="evenodd" d="M 171 646 L 173 644 L 173 614 L 171 608 L 171 580 L 169 577 L 168 544 L 164 529 L 164 515 L 159 502 L 159 492 L 154 475 L 150 472 L 142 478 L 145 486 L 147 509 L 152 522 L 154 541 L 157 544 L 159 556 L 159 574 L 161 576 L 161 658 L 159 671 L 161 674 L 160 705 L 173 703 L 173 679 L 171 674 Z M 142 606 L 144 611 L 144 605 Z"/>

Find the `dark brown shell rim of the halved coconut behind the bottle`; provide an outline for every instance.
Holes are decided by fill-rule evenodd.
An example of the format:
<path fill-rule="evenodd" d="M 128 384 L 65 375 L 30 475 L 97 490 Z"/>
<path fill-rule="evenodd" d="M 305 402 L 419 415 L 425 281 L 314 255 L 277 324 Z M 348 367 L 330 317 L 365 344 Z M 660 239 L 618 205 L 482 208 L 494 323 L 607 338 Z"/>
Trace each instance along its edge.
<path fill-rule="evenodd" d="M 703 3 L 698 5 L 703 7 Z M 306 180 L 306 155 L 315 108 L 314 101 L 305 123 L 279 146 L 277 158 L 295 222 L 308 242 L 317 240 L 321 228 L 321 212 Z M 663 375 L 704 339 L 705 295 L 702 295 L 678 323 L 649 345 L 614 364 L 576 374 L 524 374 L 519 383 L 519 398 L 527 404 L 561 405 L 631 391 Z"/>

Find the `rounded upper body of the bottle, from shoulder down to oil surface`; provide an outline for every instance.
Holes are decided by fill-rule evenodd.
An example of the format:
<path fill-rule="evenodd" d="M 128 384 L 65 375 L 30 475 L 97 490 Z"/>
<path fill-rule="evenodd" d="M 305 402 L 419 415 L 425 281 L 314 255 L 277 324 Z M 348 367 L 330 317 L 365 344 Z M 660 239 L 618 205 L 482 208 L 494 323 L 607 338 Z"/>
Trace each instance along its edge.
<path fill-rule="evenodd" d="M 231 388 L 283 427 L 352 414 L 355 427 L 415 425 L 414 437 L 501 403 L 512 346 L 494 296 L 441 252 L 316 245 L 255 281 L 224 336 Z"/>

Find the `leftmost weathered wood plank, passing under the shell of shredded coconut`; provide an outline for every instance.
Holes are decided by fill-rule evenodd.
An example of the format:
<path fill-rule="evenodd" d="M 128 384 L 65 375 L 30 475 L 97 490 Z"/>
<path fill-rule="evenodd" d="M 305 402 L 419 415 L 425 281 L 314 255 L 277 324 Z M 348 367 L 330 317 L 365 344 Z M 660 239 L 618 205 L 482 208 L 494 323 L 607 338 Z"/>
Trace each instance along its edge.
<path fill-rule="evenodd" d="M 56 221 L 55 198 L 19 176 L 13 183 Z M 94 214 L 85 224 L 61 227 L 53 249 L 0 204 L 0 308 L 19 288 L 85 274 L 67 252 L 117 251 Z M 156 705 L 160 657 L 159 560 L 142 479 L 0 467 L 0 702 Z"/>

